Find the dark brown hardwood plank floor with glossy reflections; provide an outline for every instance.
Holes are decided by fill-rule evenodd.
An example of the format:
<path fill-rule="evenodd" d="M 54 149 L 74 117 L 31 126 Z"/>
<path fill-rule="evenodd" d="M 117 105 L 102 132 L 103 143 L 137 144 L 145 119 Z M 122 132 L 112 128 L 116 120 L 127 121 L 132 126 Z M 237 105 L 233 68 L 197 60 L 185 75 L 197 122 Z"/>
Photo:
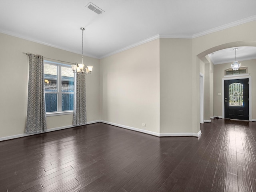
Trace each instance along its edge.
<path fill-rule="evenodd" d="M 103 123 L 0 142 L 0 192 L 256 191 L 256 122 L 158 138 Z"/>

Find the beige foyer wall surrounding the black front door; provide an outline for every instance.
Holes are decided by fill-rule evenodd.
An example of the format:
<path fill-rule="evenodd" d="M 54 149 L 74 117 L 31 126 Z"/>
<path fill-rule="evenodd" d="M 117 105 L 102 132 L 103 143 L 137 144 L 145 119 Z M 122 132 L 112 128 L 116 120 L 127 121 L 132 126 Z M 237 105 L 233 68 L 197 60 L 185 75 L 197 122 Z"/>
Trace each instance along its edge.
<path fill-rule="evenodd" d="M 252 76 L 252 119 L 256 119 L 256 59 L 239 61 L 242 66 L 248 67 L 249 76 Z M 222 78 L 224 78 L 224 70 L 230 68 L 230 63 L 214 65 L 214 115 L 222 116 Z M 222 93 L 224 94 L 224 93 Z"/>

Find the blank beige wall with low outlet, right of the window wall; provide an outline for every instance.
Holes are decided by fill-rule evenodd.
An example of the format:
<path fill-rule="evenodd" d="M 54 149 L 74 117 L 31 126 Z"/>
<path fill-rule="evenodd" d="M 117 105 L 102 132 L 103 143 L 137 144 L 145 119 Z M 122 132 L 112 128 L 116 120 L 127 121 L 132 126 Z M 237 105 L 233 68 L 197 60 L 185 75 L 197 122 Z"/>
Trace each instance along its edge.
<path fill-rule="evenodd" d="M 100 78 L 101 120 L 159 133 L 159 39 L 100 60 Z"/>

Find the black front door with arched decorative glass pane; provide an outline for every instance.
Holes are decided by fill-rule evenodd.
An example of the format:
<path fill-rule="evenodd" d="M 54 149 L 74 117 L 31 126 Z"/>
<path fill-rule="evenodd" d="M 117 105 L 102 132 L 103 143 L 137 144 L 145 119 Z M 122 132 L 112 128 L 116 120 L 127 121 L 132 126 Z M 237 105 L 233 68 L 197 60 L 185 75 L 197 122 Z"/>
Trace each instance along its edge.
<path fill-rule="evenodd" d="M 249 120 L 249 79 L 225 80 L 225 118 Z"/>

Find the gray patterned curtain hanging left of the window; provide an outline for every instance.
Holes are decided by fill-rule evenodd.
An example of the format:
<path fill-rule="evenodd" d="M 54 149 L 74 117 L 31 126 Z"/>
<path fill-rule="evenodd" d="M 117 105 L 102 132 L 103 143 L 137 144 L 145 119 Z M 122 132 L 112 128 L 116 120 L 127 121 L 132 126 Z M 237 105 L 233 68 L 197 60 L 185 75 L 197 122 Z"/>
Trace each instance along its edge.
<path fill-rule="evenodd" d="M 28 111 L 25 133 L 47 130 L 44 101 L 44 59 L 29 54 Z"/>

